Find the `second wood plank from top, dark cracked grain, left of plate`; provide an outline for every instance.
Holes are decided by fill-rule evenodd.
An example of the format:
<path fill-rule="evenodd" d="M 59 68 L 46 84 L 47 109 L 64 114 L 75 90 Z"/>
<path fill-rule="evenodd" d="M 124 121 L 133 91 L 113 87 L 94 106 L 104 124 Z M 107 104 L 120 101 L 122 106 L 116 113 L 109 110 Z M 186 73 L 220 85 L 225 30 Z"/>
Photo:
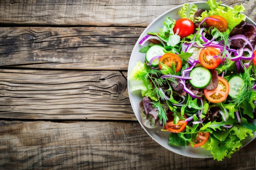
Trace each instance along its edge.
<path fill-rule="evenodd" d="M 0 66 L 127 70 L 143 28 L 2 27 Z"/>

